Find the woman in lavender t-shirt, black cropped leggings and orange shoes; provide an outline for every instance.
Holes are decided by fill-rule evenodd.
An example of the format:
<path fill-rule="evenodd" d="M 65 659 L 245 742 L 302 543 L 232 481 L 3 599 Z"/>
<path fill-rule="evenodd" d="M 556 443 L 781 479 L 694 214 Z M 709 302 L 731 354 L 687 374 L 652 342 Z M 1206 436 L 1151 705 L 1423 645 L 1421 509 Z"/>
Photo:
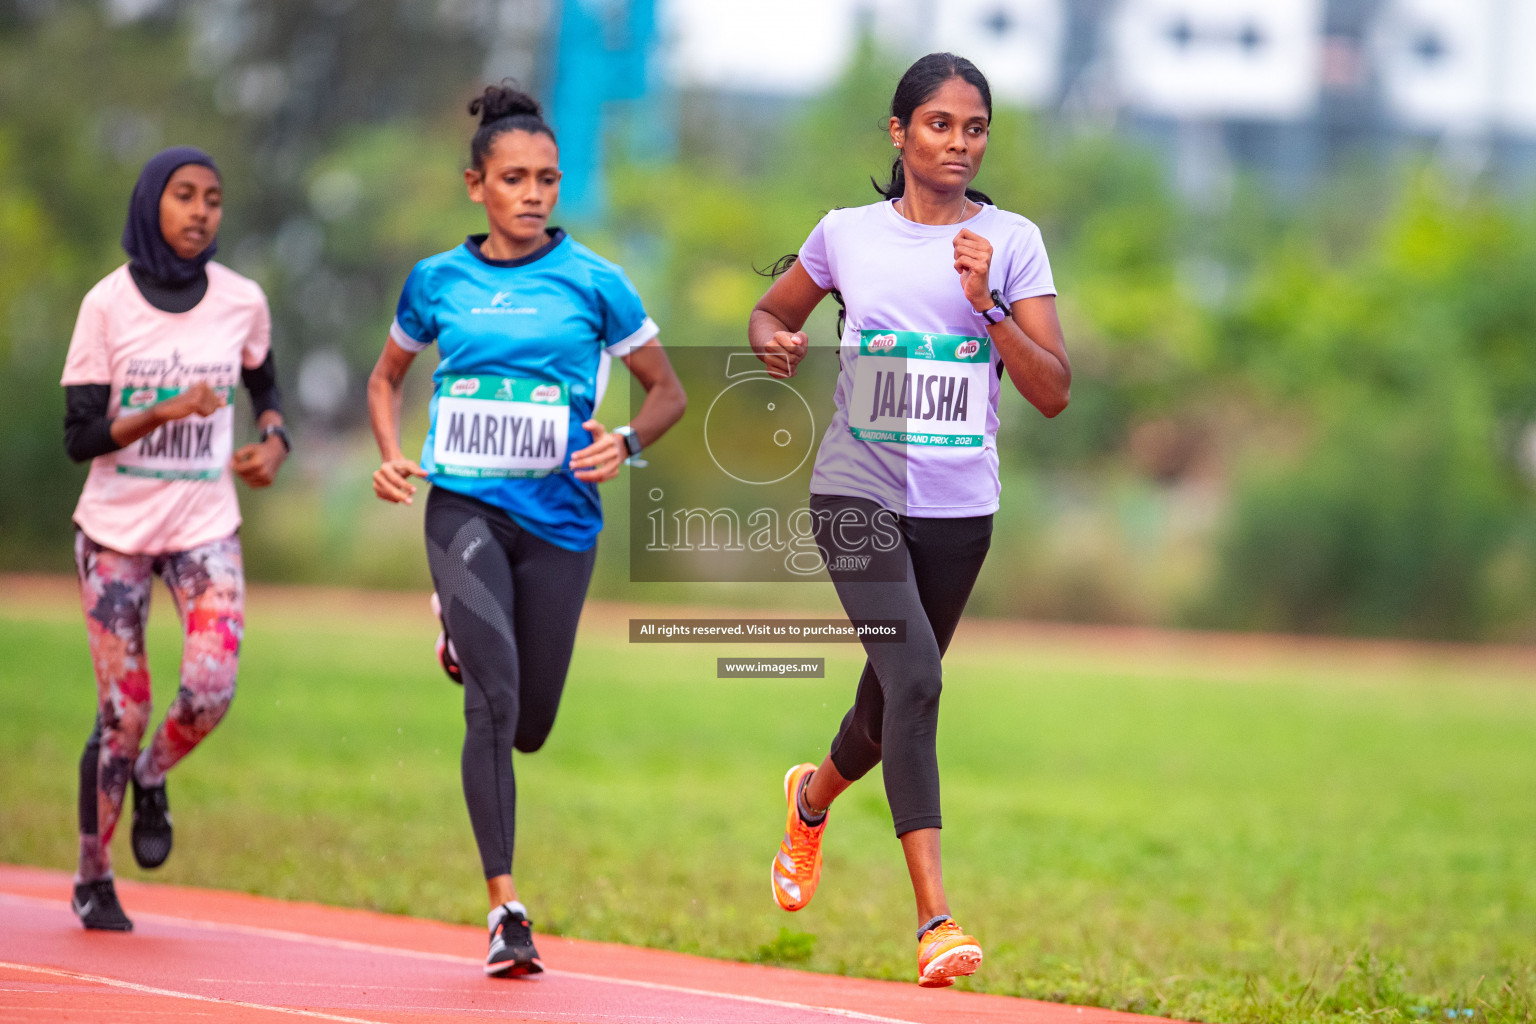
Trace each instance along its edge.
<path fill-rule="evenodd" d="M 882 201 L 828 213 L 753 310 L 753 350 L 776 376 L 805 356 L 802 330 L 833 293 L 846 312 L 836 413 L 811 476 L 817 543 L 852 620 L 902 620 L 866 643 L 854 706 L 817 765 L 785 775 L 773 892 L 811 901 L 826 809 L 883 765 L 917 898 L 919 984 L 974 973 L 982 947 L 949 917 L 938 852 L 940 659 L 982 570 L 1000 493 L 1003 378 L 1044 416 L 1072 370 L 1040 230 L 971 181 L 991 130 L 986 78 L 954 54 L 914 63 L 891 100 L 899 150 Z"/>

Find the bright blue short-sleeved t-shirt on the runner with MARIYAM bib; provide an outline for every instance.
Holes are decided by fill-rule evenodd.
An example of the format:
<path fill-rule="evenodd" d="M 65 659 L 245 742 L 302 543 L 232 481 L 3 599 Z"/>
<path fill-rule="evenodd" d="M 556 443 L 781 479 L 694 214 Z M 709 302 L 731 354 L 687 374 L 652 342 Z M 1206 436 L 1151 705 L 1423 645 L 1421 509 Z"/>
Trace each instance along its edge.
<path fill-rule="evenodd" d="M 570 456 L 591 444 L 582 422 L 591 419 L 608 384 L 611 356 L 624 356 L 656 338 L 657 327 L 634 286 L 608 263 L 561 229 L 550 241 L 521 259 L 490 259 L 481 252 L 484 235 L 470 235 L 462 246 L 422 259 L 406 278 L 390 338 L 407 352 L 436 342 L 439 362 L 432 376 L 432 428 L 422 445 L 421 465 L 433 487 L 478 497 L 502 508 L 522 528 L 571 551 L 585 551 L 602 530 L 598 487 L 578 481 Z M 465 378 L 476 378 L 475 382 Z M 485 378 L 498 381 L 487 382 Z M 510 395 L 553 395 L 564 385 L 570 404 L 564 461 L 547 476 L 479 474 L 478 470 L 439 467 L 438 404 L 444 381 L 455 396 L 473 393 L 481 382 Z M 551 399 L 554 401 L 554 399 Z M 533 407 L 528 407 L 533 408 Z M 495 418 L 487 418 L 495 419 Z M 487 428 L 484 447 L 505 454 L 508 436 L 518 442 L 518 425 L 501 433 Z M 470 421 L 478 430 L 478 422 Z M 548 424 L 544 424 L 548 427 Z M 452 431 L 464 431 L 462 418 Z M 524 441 L 528 434 L 522 434 Z M 462 450 L 462 436 L 449 444 Z M 536 442 L 550 442 L 539 436 Z M 468 436 L 468 450 L 482 447 Z M 475 456 L 464 456 L 473 461 Z M 452 470 L 452 471 L 445 471 Z M 465 474 L 468 473 L 468 474 Z"/>

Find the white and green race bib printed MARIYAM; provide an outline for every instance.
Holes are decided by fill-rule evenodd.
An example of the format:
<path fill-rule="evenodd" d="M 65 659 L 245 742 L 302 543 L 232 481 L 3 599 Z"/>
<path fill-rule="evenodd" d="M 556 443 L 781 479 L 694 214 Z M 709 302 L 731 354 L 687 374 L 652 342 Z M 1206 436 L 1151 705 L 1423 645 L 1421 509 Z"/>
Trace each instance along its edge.
<path fill-rule="evenodd" d="M 445 376 L 432 459 L 449 476 L 548 476 L 565 465 L 568 430 L 565 384 Z"/>

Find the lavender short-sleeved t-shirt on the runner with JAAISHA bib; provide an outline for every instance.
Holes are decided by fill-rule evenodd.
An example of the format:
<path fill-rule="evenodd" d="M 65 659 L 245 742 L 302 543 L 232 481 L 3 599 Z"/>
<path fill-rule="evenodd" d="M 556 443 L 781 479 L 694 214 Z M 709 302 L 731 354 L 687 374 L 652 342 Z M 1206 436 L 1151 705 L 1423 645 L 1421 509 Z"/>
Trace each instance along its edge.
<path fill-rule="evenodd" d="M 848 304 L 834 396 L 837 408 L 816 453 L 813 494 L 866 497 L 899 514 L 928 519 L 958 519 L 997 511 L 997 496 L 1001 491 L 997 479 L 1001 359 L 995 345 L 989 347 L 986 395 L 978 393 L 969 399 L 985 401 L 983 408 L 972 408 L 972 419 L 980 427 L 975 444 L 945 447 L 862 441 L 852 433 L 866 411 L 862 408 L 866 404 L 863 401 L 860 408 L 851 410 L 856 379 L 860 378 L 860 332 L 866 332 L 866 338 L 868 332 L 914 332 L 915 338 L 897 335 L 903 344 L 911 345 L 922 345 L 923 335 L 988 341 L 986 321 L 966 301 L 960 275 L 954 269 L 954 236 L 962 227 L 992 243 L 989 284 L 1001 292 L 1005 302 L 1055 295 L 1040 229 L 995 206 L 983 206 L 975 216 L 960 224 L 915 224 L 888 201 L 833 210 L 800 247 L 800 266 L 817 287 L 837 289 Z M 951 344 L 951 348 L 955 345 Z M 923 368 L 917 359 L 880 361 L 880 365 L 892 364 Z M 865 368 L 862 396 L 869 393 L 868 378 L 889 379 L 889 375 L 874 375 L 874 365 L 871 362 Z M 977 367 L 972 372 L 972 378 L 980 376 Z M 977 384 L 980 391 L 980 381 Z M 879 405 L 879 388 L 876 395 Z M 923 408 L 932 413 L 931 390 Z M 919 413 L 914 411 L 912 416 L 914 428 L 926 425 L 919 422 Z"/>

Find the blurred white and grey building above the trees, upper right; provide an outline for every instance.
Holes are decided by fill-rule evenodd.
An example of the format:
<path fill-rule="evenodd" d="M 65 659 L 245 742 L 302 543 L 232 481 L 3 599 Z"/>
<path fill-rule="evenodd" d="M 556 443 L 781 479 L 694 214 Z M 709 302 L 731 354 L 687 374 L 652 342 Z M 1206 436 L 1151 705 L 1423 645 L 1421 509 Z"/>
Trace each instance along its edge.
<path fill-rule="evenodd" d="M 671 81 L 763 97 L 825 88 L 862 31 L 949 49 L 1003 103 L 1160 141 L 1190 197 L 1424 141 L 1522 172 L 1536 140 L 1528 0 L 662 0 L 662 26 Z"/>

